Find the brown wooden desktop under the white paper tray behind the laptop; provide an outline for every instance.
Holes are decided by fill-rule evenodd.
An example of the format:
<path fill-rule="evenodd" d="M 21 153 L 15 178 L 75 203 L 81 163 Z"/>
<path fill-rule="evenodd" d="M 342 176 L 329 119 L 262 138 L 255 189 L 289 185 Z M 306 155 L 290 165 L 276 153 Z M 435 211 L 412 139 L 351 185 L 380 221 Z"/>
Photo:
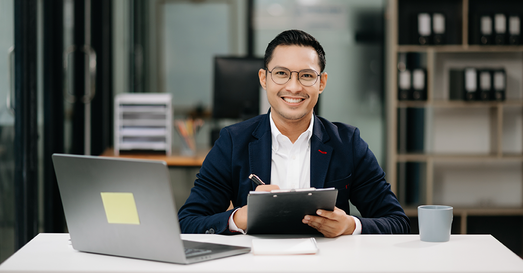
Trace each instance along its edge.
<path fill-rule="evenodd" d="M 121 157 L 134 159 L 150 159 L 162 160 L 167 162 L 169 167 L 201 167 L 203 160 L 209 153 L 209 149 L 197 150 L 196 156 L 180 156 L 179 153 L 174 152 L 171 156 L 162 155 L 161 153 L 147 153 L 147 152 L 121 152 L 119 156 L 115 156 L 115 150 L 109 148 L 100 156 L 103 157 Z"/>

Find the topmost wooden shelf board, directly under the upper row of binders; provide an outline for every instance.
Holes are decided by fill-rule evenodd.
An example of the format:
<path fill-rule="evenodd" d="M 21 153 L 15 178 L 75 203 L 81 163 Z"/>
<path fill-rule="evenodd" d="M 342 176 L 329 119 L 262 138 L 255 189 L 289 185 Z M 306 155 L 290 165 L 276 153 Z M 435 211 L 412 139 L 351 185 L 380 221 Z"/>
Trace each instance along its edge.
<path fill-rule="evenodd" d="M 398 45 L 397 52 L 523 52 L 523 45 L 477 45 L 477 44 L 446 44 L 446 45 Z"/>

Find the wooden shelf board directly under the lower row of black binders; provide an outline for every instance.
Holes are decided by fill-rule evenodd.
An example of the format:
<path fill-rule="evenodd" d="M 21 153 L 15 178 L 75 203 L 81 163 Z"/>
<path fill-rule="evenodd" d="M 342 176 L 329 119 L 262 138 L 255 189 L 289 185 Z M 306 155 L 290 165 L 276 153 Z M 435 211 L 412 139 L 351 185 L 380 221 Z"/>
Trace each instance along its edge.
<path fill-rule="evenodd" d="M 398 101 L 398 108 L 492 108 L 499 106 L 523 106 L 523 100 L 506 101 L 459 101 L 459 100 L 433 100 L 433 101 Z"/>

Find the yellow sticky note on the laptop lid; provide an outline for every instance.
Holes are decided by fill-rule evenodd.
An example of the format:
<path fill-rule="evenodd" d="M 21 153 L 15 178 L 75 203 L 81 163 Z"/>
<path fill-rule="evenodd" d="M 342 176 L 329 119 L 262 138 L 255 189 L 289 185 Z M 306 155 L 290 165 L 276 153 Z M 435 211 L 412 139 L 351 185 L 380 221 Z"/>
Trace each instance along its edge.
<path fill-rule="evenodd" d="M 107 222 L 110 224 L 140 224 L 132 193 L 100 193 Z"/>

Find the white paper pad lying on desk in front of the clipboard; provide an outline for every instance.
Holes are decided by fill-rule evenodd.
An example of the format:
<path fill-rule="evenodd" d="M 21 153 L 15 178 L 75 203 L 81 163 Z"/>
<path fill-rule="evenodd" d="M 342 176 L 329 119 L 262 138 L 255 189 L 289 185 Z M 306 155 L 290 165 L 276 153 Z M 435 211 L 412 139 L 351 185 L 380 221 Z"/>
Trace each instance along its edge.
<path fill-rule="evenodd" d="M 314 238 L 302 239 L 253 239 L 254 255 L 316 254 Z"/>

